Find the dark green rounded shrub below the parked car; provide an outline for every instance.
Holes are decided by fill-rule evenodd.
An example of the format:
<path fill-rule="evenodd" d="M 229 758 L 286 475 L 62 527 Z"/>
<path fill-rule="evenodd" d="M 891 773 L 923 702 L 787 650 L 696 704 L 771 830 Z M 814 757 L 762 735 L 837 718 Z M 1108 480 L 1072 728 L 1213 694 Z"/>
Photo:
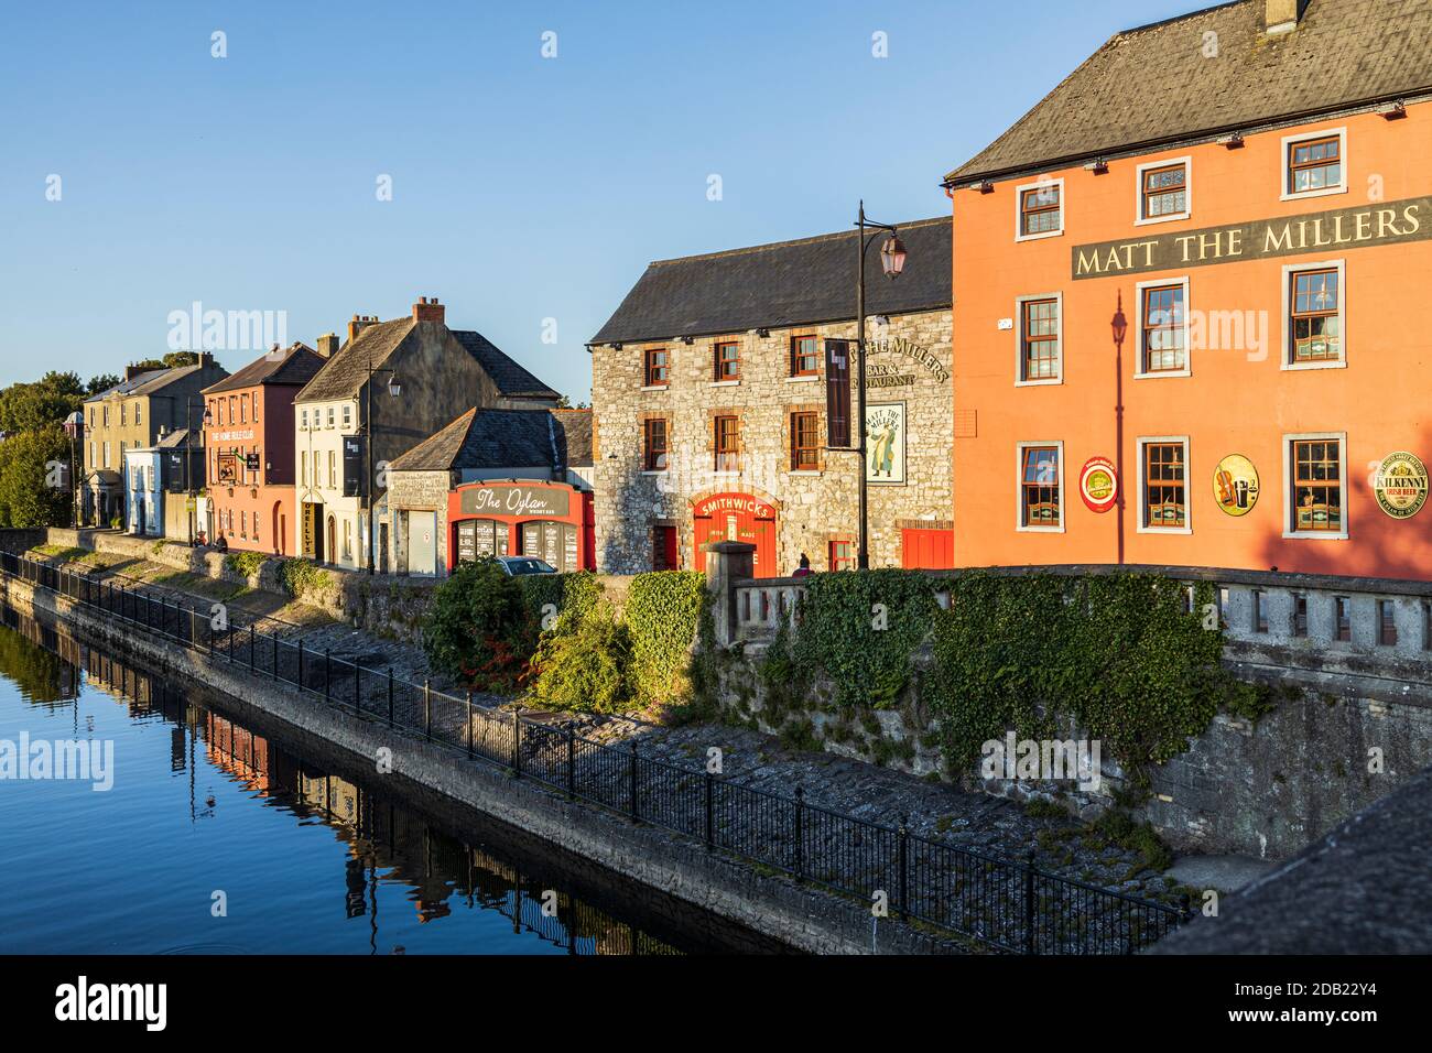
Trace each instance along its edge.
<path fill-rule="evenodd" d="M 491 556 L 460 564 L 432 592 L 422 619 L 432 666 L 478 691 L 514 691 L 536 645 L 537 622 L 523 587 Z"/>

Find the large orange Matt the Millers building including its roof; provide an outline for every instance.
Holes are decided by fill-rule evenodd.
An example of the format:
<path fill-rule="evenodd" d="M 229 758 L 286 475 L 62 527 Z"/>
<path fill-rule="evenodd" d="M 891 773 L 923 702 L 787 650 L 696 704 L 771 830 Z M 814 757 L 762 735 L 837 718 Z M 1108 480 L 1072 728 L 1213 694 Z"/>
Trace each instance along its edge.
<path fill-rule="evenodd" d="M 1432 577 L 1432 0 L 1116 34 L 947 176 L 955 564 Z"/>

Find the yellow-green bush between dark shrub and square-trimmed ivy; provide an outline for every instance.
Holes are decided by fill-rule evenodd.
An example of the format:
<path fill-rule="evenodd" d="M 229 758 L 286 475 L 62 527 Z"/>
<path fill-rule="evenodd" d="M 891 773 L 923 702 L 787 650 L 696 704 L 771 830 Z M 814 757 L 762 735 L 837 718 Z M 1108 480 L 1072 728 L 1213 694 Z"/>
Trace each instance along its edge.
<path fill-rule="evenodd" d="M 616 713 L 632 708 L 632 642 L 609 607 L 597 607 L 570 632 L 544 636 L 531 668 L 531 695 L 561 709 Z"/>

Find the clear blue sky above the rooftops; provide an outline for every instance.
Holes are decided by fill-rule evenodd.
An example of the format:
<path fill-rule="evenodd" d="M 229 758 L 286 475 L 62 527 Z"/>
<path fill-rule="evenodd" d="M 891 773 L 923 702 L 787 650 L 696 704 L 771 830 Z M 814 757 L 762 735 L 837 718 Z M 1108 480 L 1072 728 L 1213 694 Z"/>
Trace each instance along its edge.
<path fill-rule="evenodd" d="M 939 178 L 1111 33 L 1199 6 L 9 3 L 0 384 L 160 355 L 192 301 L 312 344 L 437 295 L 584 400 L 649 261 L 843 229 L 862 196 L 941 215 Z"/>

